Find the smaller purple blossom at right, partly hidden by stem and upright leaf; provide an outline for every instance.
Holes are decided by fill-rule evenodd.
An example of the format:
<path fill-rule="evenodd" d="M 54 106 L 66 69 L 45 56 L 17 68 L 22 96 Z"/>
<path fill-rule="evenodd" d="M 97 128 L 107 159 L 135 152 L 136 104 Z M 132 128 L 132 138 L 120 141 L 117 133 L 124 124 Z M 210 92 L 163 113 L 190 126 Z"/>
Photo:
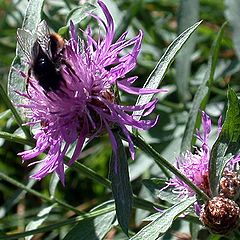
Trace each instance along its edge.
<path fill-rule="evenodd" d="M 195 149 L 195 153 L 187 151 L 185 154 L 179 156 L 177 160 L 177 168 L 196 186 L 202 189 L 207 195 L 210 196 L 209 187 L 209 160 L 211 148 L 208 143 L 209 134 L 211 132 L 211 119 L 202 112 L 202 127 L 203 132 L 197 130 L 196 137 L 201 142 L 201 147 Z M 221 118 L 218 123 L 218 133 L 221 131 Z M 240 155 L 234 156 L 228 162 L 226 169 L 233 170 L 235 164 L 240 161 Z M 173 192 L 182 197 L 194 196 L 195 192 L 181 179 L 173 177 L 167 182 L 167 187 L 172 187 Z M 164 188 L 164 189 L 165 189 Z"/>

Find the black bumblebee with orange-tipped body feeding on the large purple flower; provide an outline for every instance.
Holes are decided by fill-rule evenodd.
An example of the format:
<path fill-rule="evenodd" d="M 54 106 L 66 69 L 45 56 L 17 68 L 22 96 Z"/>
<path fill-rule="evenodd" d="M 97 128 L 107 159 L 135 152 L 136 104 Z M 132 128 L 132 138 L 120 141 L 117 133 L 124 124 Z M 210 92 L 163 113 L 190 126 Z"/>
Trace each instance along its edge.
<path fill-rule="evenodd" d="M 18 29 L 17 41 L 30 64 L 27 92 L 32 75 L 46 92 L 58 90 L 61 82 L 64 82 L 61 74 L 64 39 L 56 33 L 50 33 L 47 23 L 43 20 L 37 26 L 34 35 L 28 30 Z"/>

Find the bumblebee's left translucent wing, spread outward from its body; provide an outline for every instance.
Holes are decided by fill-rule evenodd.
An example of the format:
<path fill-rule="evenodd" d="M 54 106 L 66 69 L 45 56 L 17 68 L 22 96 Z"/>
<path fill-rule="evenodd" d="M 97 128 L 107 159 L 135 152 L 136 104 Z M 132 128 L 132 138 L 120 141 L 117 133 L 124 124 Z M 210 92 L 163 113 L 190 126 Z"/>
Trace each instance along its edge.
<path fill-rule="evenodd" d="M 33 35 L 28 30 L 21 28 L 17 29 L 17 42 L 28 62 L 31 62 L 31 49 L 34 41 L 33 38 Z"/>

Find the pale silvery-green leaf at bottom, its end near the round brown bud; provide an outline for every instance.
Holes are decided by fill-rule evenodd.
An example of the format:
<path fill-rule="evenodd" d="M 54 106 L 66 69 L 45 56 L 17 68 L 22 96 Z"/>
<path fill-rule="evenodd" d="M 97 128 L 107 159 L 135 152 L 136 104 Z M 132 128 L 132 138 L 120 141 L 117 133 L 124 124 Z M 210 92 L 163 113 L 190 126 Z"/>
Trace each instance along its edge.
<path fill-rule="evenodd" d="M 148 217 L 145 220 L 152 222 L 142 228 L 131 240 L 153 240 L 162 236 L 171 227 L 174 219 L 188 209 L 195 201 L 195 197 L 188 198 L 164 212 L 158 212 Z"/>

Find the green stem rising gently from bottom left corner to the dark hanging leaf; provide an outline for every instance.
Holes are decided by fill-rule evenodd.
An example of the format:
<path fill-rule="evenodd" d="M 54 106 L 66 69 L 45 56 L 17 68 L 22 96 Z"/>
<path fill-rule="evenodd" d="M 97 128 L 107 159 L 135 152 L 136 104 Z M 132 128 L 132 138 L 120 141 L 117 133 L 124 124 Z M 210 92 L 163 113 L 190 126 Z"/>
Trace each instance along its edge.
<path fill-rule="evenodd" d="M 46 227 L 41 227 L 35 230 L 31 230 L 31 231 L 26 231 L 23 233 L 17 233 L 17 234 L 9 234 L 8 236 L 1 236 L 1 240 L 10 240 L 10 239 L 20 239 L 26 236 L 31 236 L 31 235 L 36 235 L 37 233 L 42 233 L 42 232 L 49 232 L 51 230 L 54 230 L 56 228 L 60 228 L 62 226 L 65 225 L 69 225 L 72 224 L 74 225 L 75 223 L 82 221 L 82 220 L 86 220 L 86 219 L 92 219 L 98 216 L 101 216 L 105 213 L 109 213 L 111 211 L 114 211 L 115 207 L 114 206 L 110 206 L 110 207 L 106 207 L 104 209 L 100 209 L 100 210 L 96 210 L 96 211 L 92 211 L 90 213 L 86 213 L 83 216 L 78 216 L 78 217 L 74 217 L 74 218 L 70 218 L 70 219 L 66 219 L 63 221 L 59 221 L 57 223 L 54 224 L 50 224 Z"/>

